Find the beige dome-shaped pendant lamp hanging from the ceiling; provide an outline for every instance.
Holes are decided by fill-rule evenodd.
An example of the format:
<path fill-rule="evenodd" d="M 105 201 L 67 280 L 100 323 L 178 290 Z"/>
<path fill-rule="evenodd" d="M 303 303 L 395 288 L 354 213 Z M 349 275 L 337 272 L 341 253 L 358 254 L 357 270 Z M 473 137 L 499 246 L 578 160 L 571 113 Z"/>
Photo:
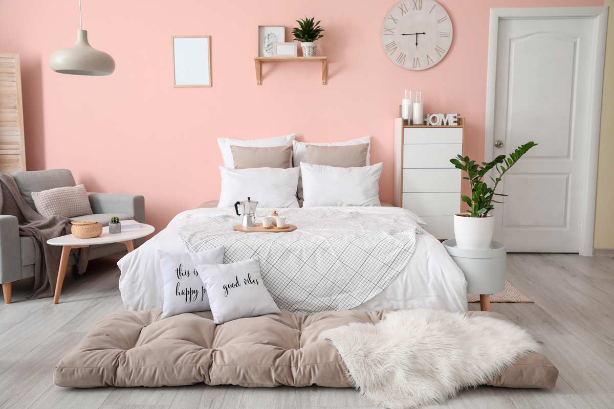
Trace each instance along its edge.
<path fill-rule="evenodd" d="M 56 50 L 49 58 L 53 71 L 73 75 L 109 75 L 115 71 L 112 56 L 98 51 L 87 42 L 87 30 L 81 24 L 81 0 L 79 0 L 79 30 L 77 42 L 70 48 Z"/>

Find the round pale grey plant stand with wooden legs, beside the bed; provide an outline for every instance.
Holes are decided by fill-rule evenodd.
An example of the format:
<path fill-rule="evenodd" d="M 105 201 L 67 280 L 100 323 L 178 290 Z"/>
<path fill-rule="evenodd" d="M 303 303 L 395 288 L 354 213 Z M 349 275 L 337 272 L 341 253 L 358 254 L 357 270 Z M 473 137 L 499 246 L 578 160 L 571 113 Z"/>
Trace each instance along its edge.
<path fill-rule="evenodd" d="M 480 294 L 480 310 L 491 310 L 491 294 L 505 288 L 505 244 L 491 242 L 488 250 L 457 248 L 456 240 L 445 240 L 443 246 L 461 267 L 467 280 L 467 293 Z"/>

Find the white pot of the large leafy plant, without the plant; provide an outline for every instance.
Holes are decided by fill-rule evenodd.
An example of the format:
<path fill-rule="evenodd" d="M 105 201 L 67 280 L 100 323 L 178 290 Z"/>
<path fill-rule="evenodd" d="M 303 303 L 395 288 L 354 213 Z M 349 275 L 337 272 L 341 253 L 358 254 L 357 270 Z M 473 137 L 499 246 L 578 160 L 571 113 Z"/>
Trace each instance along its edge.
<path fill-rule="evenodd" d="M 456 213 L 454 215 L 456 246 L 467 250 L 488 250 L 495 232 L 495 218 L 493 216 L 462 216 L 468 214 Z"/>

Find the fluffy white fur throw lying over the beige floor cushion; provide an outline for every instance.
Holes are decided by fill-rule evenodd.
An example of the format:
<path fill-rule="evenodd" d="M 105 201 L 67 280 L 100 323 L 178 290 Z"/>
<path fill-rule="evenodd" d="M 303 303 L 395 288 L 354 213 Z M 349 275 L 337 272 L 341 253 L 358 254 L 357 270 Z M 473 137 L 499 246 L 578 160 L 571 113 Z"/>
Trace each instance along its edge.
<path fill-rule="evenodd" d="M 444 402 L 538 350 L 508 321 L 436 310 L 391 312 L 375 325 L 352 323 L 320 338 L 335 345 L 354 386 L 386 408 Z"/>

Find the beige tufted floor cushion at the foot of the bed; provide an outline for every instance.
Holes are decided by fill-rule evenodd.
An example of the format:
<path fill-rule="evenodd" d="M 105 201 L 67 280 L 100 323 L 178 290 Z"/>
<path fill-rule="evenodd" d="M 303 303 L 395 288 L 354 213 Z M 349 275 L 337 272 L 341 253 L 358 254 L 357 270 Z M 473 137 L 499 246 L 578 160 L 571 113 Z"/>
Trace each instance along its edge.
<path fill-rule="evenodd" d="M 161 310 L 117 312 L 95 324 L 56 365 L 53 378 L 59 386 L 77 388 L 200 382 L 351 388 L 337 350 L 318 335 L 351 322 L 376 323 L 384 313 L 352 310 L 308 316 L 282 311 L 216 326 L 211 312 L 166 319 L 160 319 Z M 514 365 L 491 384 L 554 386 L 558 370 L 545 356 L 531 356 L 537 361 L 524 357 L 530 362 Z"/>

